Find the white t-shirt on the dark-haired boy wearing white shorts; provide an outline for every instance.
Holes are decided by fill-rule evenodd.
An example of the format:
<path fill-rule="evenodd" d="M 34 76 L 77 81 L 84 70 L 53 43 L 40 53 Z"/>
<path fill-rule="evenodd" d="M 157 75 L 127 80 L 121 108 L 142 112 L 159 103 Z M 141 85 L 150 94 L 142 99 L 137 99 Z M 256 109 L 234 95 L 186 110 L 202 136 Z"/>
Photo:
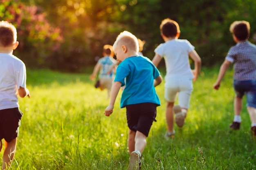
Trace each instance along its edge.
<path fill-rule="evenodd" d="M 155 53 L 164 57 L 166 64 L 166 86 L 171 83 L 171 79 L 193 79 L 189 63 L 189 52 L 193 49 L 195 47 L 188 40 L 180 39 L 173 39 L 157 46 Z"/>

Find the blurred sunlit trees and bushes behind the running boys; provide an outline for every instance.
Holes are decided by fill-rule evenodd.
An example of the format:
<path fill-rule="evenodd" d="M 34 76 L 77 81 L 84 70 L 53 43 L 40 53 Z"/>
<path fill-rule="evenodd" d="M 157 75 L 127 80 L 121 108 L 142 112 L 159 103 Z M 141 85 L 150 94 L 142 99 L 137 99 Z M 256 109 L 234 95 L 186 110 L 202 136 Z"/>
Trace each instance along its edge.
<path fill-rule="evenodd" d="M 251 24 L 249 41 L 256 43 L 255 0 L 0 0 L 0 18 L 18 31 L 14 55 L 28 68 L 82 73 L 102 57 L 124 30 L 145 40 L 145 56 L 163 43 L 164 18 L 180 25 L 202 58 L 202 66 L 223 62 L 235 42 L 229 26 L 235 20 Z M 164 61 L 162 61 L 164 62 Z M 164 65 L 164 63 L 161 63 Z"/>

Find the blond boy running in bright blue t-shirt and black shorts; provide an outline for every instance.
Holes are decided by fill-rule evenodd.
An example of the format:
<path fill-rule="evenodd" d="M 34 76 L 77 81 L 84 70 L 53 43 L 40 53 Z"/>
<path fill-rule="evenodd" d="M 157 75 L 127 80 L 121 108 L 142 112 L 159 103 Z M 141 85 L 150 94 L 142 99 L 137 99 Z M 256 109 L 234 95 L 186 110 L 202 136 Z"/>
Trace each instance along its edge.
<path fill-rule="evenodd" d="M 156 107 L 160 105 L 155 86 L 162 82 L 162 76 L 147 57 L 138 55 L 139 43 L 132 33 L 120 33 L 113 48 L 120 64 L 117 66 L 112 84 L 110 103 L 104 114 L 110 116 L 113 112 L 119 89 L 125 85 L 121 96 L 121 108 L 126 107 L 129 127 L 128 170 L 139 170 L 141 153 L 146 147 L 146 138 L 155 121 Z"/>

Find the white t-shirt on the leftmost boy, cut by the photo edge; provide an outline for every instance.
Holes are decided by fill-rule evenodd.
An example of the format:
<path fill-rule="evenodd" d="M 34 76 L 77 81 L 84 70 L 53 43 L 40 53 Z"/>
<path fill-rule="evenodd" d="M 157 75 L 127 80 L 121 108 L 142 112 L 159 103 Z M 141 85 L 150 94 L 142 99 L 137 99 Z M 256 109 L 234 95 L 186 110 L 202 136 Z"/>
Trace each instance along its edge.
<path fill-rule="evenodd" d="M 0 110 L 19 107 L 16 91 L 26 88 L 26 79 L 25 64 L 12 54 L 0 53 Z"/>

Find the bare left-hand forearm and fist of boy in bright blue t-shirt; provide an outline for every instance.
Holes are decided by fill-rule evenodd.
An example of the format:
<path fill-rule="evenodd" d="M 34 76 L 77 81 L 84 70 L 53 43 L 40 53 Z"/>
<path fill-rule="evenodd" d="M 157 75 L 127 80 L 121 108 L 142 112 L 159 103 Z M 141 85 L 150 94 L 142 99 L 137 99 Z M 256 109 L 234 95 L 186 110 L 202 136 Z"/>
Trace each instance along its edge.
<path fill-rule="evenodd" d="M 115 100 L 117 98 L 118 92 L 121 88 L 121 82 L 113 82 L 112 88 L 111 88 L 111 94 L 110 94 L 110 102 L 108 107 L 105 109 L 104 114 L 106 116 L 110 116 L 111 113 L 113 112 Z"/>

